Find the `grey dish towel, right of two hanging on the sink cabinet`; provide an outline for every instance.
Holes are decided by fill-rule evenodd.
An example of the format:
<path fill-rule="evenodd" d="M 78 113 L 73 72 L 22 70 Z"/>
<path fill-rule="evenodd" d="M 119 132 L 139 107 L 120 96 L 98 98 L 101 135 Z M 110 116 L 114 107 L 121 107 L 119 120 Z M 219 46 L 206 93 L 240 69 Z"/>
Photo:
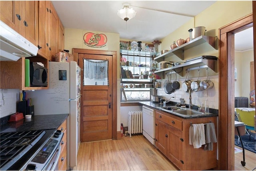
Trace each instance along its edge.
<path fill-rule="evenodd" d="M 206 123 L 205 127 L 205 145 L 204 150 L 212 151 L 213 150 L 213 143 L 217 142 L 216 134 L 215 134 L 215 127 L 214 123 Z"/>

